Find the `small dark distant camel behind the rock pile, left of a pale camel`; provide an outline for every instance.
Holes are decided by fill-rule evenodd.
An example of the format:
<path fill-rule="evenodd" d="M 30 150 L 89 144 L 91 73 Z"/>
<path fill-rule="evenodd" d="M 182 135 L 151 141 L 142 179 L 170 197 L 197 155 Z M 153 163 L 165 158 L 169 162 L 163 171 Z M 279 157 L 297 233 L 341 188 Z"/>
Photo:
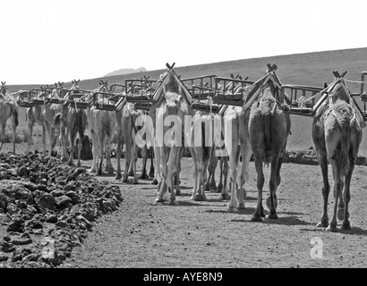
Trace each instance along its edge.
<path fill-rule="evenodd" d="M 80 80 L 73 80 L 73 87 L 68 90 L 64 97 L 64 103 L 62 104 L 62 111 L 55 115 L 55 124 L 60 125 L 60 138 L 63 146 L 63 155 L 61 157 L 62 162 L 68 162 L 70 166 L 74 166 L 73 153 L 76 136 L 79 135 L 79 142 L 77 145 L 78 150 L 78 167 L 81 166 L 81 141 L 84 137 L 84 132 L 88 125 L 87 113 L 84 109 L 77 107 L 76 102 L 72 100 L 73 92 L 80 89 Z M 69 143 L 71 147 L 70 156 L 67 152 L 66 136 L 69 133 Z M 78 133 L 78 134 L 77 134 Z M 67 159 L 69 156 L 69 159 Z"/>

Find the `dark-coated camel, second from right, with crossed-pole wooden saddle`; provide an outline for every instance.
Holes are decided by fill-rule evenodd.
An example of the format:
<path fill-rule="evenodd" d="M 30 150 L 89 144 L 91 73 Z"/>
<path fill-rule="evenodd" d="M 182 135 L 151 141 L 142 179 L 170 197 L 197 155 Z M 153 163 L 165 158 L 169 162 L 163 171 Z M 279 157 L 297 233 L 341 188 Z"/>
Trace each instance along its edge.
<path fill-rule="evenodd" d="M 249 118 L 249 132 L 252 152 L 257 172 L 258 203 L 252 216 L 253 222 L 261 222 L 265 217 L 262 206 L 262 189 L 264 174 L 262 164 L 271 166 L 269 192 L 267 199 L 269 218 L 277 219 L 277 186 L 280 184 L 280 168 L 286 153 L 286 139 L 290 133 L 291 121 L 289 114 L 280 108 L 282 93 L 280 81 L 274 70 L 259 80 L 257 97 L 248 98 L 244 105 L 251 104 Z"/>

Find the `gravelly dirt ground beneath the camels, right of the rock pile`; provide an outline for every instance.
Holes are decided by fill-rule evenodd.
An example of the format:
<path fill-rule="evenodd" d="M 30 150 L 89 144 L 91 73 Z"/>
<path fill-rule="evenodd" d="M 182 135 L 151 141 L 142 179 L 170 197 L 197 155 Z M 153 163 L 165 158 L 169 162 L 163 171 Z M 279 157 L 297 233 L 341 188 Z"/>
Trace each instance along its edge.
<path fill-rule="evenodd" d="M 90 167 L 91 162 L 83 164 Z M 263 203 L 268 214 L 265 199 L 269 196 L 269 168 L 264 171 Z M 219 200 L 215 192 L 208 191 L 205 202 L 190 200 L 192 172 L 192 159 L 183 158 L 183 195 L 177 197 L 178 206 L 155 204 L 157 186 L 151 185 L 150 179 L 132 185 L 115 181 L 115 175 L 99 177 L 118 184 L 124 202 L 118 211 L 98 219 L 83 246 L 74 248 L 72 257 L 61 267 L 367 266 L 365 166 L 356 166 L 352 179 L 352 231 L 337 233 L 315 226 L 322 208 L 322 179 L 317 165 L 283 164 L 282 182 L 277 189 L 279 218 L 265 218 L 262 223 L 251 221 L 257 200 L 253 163 L 246 187 L 246 208 L 231 214 L 226 213 L 228 201 Z M 330 192 L 329 217 L 333 201 Z"/>

